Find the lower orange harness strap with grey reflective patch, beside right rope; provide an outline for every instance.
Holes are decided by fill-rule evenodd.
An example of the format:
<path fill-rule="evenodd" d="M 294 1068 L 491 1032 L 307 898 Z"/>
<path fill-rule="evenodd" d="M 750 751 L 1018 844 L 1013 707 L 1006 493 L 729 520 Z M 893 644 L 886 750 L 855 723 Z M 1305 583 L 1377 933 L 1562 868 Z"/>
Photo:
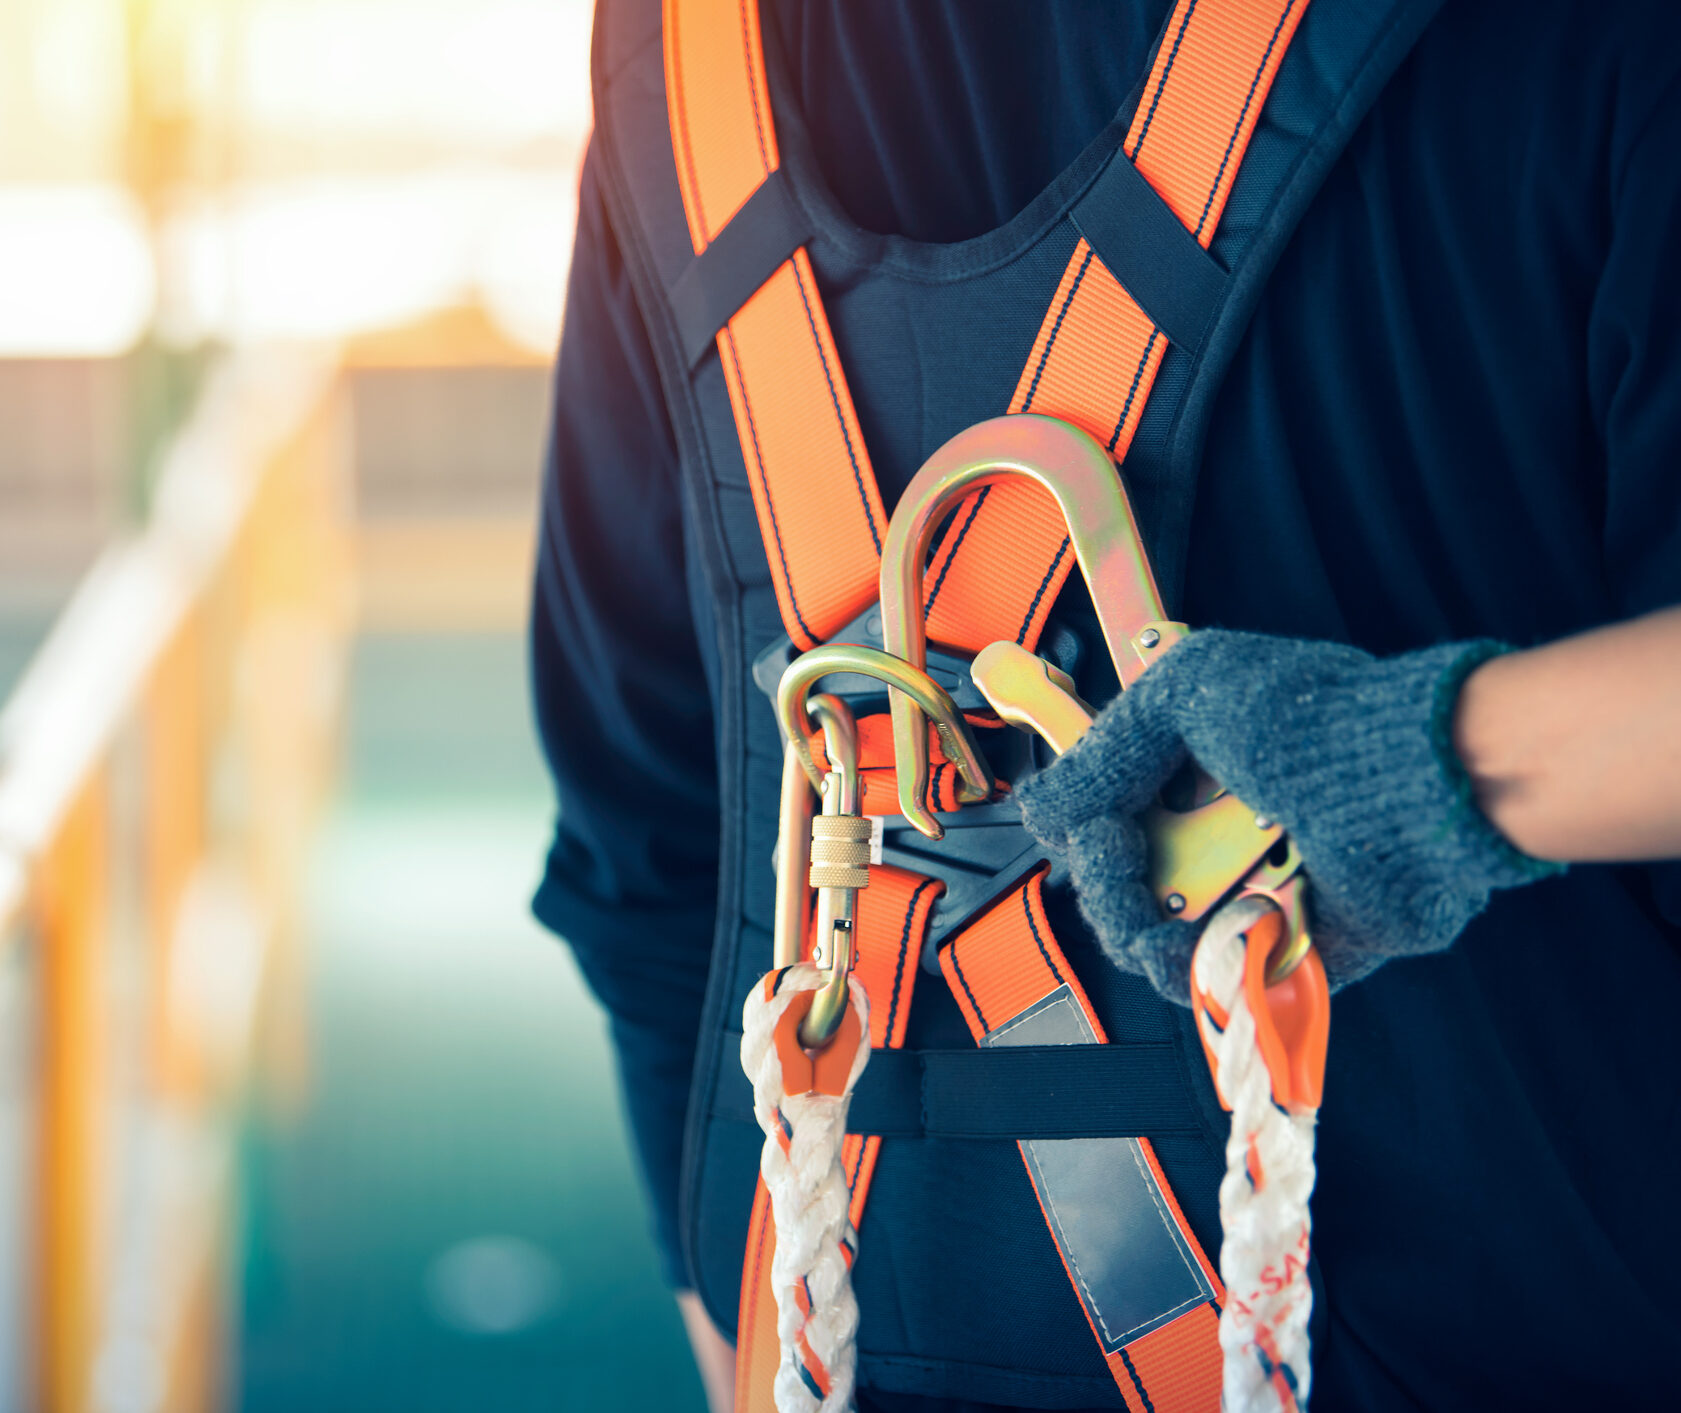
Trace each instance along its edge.
<path fill-rule="evenodd" d="M 1051 936 L 1042 874 L 940 953 L 977 1043 L 1104 1045 Z M 1022 1139 L 1039 1208 L 1091 1332 L 1135 1413 L 1220 1406 L 1220 1279 L 1146 1137 Z"/>

